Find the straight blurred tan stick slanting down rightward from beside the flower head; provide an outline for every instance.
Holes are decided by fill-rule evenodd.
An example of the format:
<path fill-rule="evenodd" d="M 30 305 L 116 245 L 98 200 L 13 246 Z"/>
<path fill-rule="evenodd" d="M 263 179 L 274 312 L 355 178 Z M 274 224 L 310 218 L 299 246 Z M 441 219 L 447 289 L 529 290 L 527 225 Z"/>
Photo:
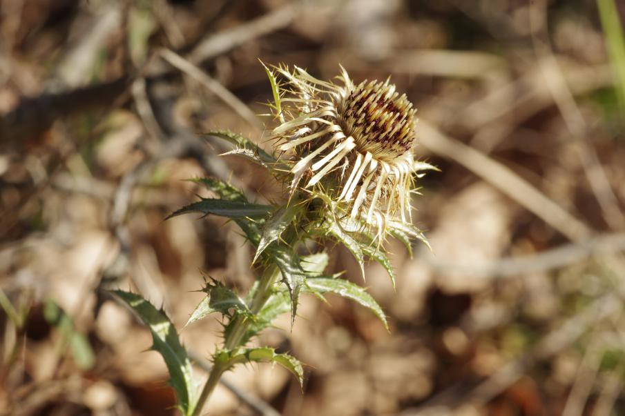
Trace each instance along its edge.
<path fill-rule="evenodd" d="M 590 236 L 591 230 L 586 224 L 503 164 L 464 143 L 447 137 L 423 121 L 419 121 L 419 131 L 419 141 L 423 146 L 468 168 L 571 241 L 580 241 Z"/>

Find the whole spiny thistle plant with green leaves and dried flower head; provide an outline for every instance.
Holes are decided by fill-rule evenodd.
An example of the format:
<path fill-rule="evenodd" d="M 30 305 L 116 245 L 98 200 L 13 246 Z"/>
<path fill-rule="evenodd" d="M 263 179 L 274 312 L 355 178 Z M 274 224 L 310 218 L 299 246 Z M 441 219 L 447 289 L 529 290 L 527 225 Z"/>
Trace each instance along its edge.
<path fill-rule="evenodd" d="M 213 178 L 192 179 L 212 192 L 173 212 L 189 212 L 231 219 L 256 250 L 251 267 L 259 277 L 242 297 L 217 279 L 202 290 L 206 297 L 187 323 L 217 315 L 223 319 L 224 342 L 212 356 L 209 378 L 200 389 L 177 332 L 162 310 L 133 293 L 115 294 L 134 308 L 151 328 L 153 348 L 169 368 L 170 382 L 184 415 L 200 415 L 222 374 L 237 364 L 271 361 L 291 371 L 300 384 L 302 364 L 287 354 L 249 343 L 278 315 L 291 313 L 291 328 L 302 293 L 323 299 L 325 293 L 352 299 L 372 312 L 388 328 L 382 308 L 367 291 L 338 275 L 327 275 L 329 242 L 343 244 L 354 255 L 364 277 L 365 261 L 381 264 L 395 286 L 394 271 L 384 241 L 389 236 L 405 244 L 427 244 L 412 225 L 412 194 L 423 170 L 433 167 L 415 161 L 415 110 L 389 80 L 354 83 L 341 67 L 338 81 L 322 81 L 305 70 L 285 66 L 267 68 L 273 91 L 270 103 L 276 127 L 271 130 L 273 152 L 227 131 L 210 132 L 233 143 L 229 154 L 263 166 L 284 195 L 275 204 L 256 204 L 230 184 Z M 318 250 L 303 254 L 306 242 Z"/>

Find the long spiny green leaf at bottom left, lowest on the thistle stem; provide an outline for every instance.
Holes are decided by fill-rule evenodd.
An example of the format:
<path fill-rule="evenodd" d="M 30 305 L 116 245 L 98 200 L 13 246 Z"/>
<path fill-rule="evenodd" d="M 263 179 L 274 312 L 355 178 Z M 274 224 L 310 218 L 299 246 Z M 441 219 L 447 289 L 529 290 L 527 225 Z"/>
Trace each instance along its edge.
<path fill-rule="evenodd" d="M 182 413 L 192 415 L 198 395 L 191 360 L 186 355 L 176 330 L 166 315 L 135 293 L 112 290 L 141 317 L 152 333 L 153 348 L 162 355 L 169 370 L 169 383 L 174 388 Z"/>

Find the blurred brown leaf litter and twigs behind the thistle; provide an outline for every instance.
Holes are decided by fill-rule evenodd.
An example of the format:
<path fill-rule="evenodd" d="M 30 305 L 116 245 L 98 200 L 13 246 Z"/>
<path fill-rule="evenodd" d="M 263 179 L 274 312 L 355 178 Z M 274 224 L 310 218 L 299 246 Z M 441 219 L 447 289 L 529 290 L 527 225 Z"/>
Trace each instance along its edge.
<path fill-rule="evenodd" d="M 388 242 L 394 291 L 377 264 L 363 282 L 331 250 L 390 332 L 349 301 L 304 297 L 292 332 L 285 316 L 263 335 L 308 364 L 303 393 L 282 368 L 240 367 L 210 415 L 625 415 L 622 0 L 2 0 L 0 13 L 0 414 L 176 414 L 148 330 L 104 288 L 142 293 L 178 328 L 202 274 L 249 288 L 232 224 L 163 219 L 205 195 L 191 177 L 279 195 L 196 135 L 271 146 L 262 59 L 320 79 L 341 63 L 407 94 L 416 152 L 441 168 L 414 199 L 432 252 Z M 201 360 L 219 330 L 204 319 L 181 337 Z"/>

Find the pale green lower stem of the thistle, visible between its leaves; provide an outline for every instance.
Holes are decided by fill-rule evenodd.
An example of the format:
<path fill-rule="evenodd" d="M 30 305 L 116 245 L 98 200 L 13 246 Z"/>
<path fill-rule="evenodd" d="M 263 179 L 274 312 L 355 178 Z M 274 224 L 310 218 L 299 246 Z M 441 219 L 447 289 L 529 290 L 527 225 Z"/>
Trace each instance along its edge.
<path fill-rule="evenodd" d="M 256 293 L 254 293 L 254 296 L 249 303 L 251 313 L 257 314 L 262 307 L 265 306 L 265 303 L 271 296 L 273 285 L 276 284 L 276 281 L 279 278 L 280 269 L 278 269 L 278 266 L 271 265 L 265 269 L 265 272 L 262 273 L 260 281 L 258 282 Z M 232 350 L 233 348 L 240 346 L 245 333 L 247 333 L 248 327 L 249 319 L 243 315 L 237 315 L 237 317 L 235 317 L 232 330 L 228 333 L 226 339 L 224 340 L 224 349 Z M 200 394 L 200 399 L 198 399 L 198 405 L 193 411 L 193 416 L 200 416 L 202 414 L 204 404 L 206 404 L 206 401 L 209 397 L 211 397 L 211 393 L 215 390 L 215 386 L 219 383 L 219 379 L 229 366 L 229 363 L 215 362 L 215 365 L 211 370 L 211 374 L 209 375 L 209 379 L 206 380 L 206 384 L 204 384 L 204 387 L 202 388 L 202 393 Z"/>

